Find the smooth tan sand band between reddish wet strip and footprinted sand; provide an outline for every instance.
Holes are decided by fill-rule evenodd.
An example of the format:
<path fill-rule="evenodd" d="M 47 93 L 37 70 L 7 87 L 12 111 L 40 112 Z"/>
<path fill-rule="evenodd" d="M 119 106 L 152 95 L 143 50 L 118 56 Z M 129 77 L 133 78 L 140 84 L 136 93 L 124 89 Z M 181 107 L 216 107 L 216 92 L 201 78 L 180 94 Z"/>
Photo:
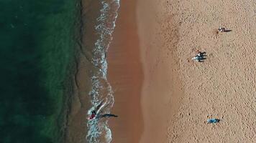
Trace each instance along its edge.
<path fill-rule="evenodd" d="M 178 111 L 183 87 L 177 52 L 178 27 L 162 1 L 138 1 L 137 20 L 145 80 L 140 142 L 168 142 L 168 122 Z M 170 124 L 171 126 L 171 124 Z"/>

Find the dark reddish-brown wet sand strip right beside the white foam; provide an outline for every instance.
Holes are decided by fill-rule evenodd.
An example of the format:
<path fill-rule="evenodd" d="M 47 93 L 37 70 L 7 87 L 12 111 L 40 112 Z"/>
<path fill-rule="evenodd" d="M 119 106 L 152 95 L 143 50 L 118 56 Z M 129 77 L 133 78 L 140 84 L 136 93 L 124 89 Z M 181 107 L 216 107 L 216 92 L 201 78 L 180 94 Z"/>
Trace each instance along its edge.
<path fill-rule="evenodd" d="M 121 1 L 119 16 L 107 60 L 108 80 L 114 90 L 114 107 L 118 118 L 109 119 L 112 142 L 139 142 L 142 134 L 142 65 L 135 5 L 136 1 Z"/>

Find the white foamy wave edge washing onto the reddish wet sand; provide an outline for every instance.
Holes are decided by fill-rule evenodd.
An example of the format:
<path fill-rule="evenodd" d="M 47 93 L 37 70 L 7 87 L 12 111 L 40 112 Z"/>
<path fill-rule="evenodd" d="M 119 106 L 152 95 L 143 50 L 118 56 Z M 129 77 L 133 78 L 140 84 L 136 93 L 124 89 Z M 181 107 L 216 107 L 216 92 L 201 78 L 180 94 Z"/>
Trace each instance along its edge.
<path fill-rule="evenodd" d="M 98 71 L 91 77 L 92 89 L 89 92 L 91 96 L 90 111 L 96 108 L 100 102 L 105 101 L 101 114 L 110 113 L 114 104 L 114 95 L 111 85 L 107 81 L 106 74 L 108 64 L 106 61 L 106 52 L 112 40 L 111 34 L 114 31 L 117 11 L 119 9 L 119 0 L 102 0 L 101 14 L 96 19 L 99 24 L 95 26 L 99 39 L 94 44 L 92 63 L 98 67 Z M 108 119 L 92 119 L 88 121 L 88 134 L 86 139 L 90 143 L 111 142 L 111 129 L 109 129 Z"/>

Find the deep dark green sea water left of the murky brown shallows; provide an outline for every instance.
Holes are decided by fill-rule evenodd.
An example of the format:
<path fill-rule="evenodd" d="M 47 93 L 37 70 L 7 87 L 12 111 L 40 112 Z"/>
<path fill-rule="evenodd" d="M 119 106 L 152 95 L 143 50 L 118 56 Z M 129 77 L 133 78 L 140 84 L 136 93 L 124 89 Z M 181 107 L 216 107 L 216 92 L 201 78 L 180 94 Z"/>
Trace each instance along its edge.
<path fill-rule="evenodd" d="M 0 0 L 0 142 L 63 142 L 76 0 Z"/>

